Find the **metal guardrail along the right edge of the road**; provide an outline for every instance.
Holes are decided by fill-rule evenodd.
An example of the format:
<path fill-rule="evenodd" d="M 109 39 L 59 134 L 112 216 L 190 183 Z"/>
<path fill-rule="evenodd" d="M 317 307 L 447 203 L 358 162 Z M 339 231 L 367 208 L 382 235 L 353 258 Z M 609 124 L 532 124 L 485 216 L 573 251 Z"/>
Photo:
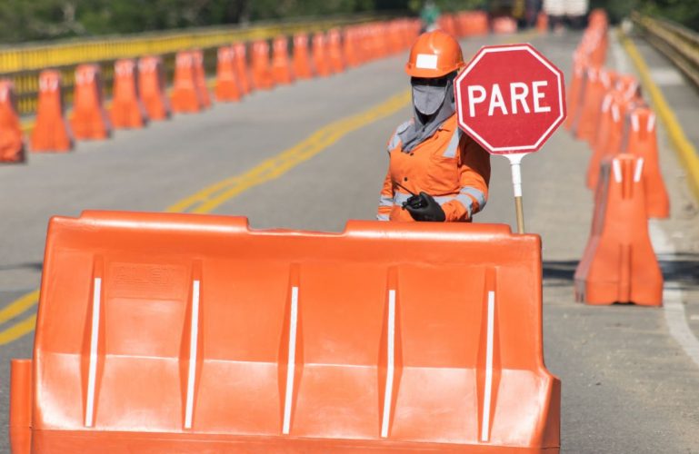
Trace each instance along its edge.
<path fill-rule="evenodd" d="M 666 19 L 634 13 L 634 24 L 658 51 L 699 86 L 699 33 Z"/>

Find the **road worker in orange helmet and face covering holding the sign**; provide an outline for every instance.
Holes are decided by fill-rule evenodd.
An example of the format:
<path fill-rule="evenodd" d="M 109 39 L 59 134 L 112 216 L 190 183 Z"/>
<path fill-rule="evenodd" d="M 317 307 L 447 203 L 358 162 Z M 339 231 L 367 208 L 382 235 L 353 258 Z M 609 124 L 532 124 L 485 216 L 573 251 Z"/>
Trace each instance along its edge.
<path fill-rule="evenodd" d="M 470 222 L 483 209 L 490 155 L 456 123 L 454 78 L 462 66 L 461 47 L 440 30 L 413 44 L 405 72 L 414 115 L 388 142 L 378 220 Z"/>

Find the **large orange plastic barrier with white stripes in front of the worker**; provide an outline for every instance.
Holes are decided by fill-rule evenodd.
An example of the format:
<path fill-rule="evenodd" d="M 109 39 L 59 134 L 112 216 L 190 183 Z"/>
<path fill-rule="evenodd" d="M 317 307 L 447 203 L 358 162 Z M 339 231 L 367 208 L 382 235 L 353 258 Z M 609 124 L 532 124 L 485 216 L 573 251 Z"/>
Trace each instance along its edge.
<path fill-rule="evenodd" d="M 45 257 L 35 453 L 558 450 L 537 235 L 84 212 Z"/>

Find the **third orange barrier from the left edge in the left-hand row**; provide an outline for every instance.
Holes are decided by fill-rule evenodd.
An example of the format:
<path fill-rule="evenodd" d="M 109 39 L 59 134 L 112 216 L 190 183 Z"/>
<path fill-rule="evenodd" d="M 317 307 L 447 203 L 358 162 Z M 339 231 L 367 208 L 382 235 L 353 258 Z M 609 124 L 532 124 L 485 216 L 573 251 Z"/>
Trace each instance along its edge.
<path fill-rule="evenodd" d="M 102 76 L 96 64 L 80 64 L 75 68 L 70 125 L 76 139 L 101 140 L 112 135 L 112 124 L 104 107 Z"/>

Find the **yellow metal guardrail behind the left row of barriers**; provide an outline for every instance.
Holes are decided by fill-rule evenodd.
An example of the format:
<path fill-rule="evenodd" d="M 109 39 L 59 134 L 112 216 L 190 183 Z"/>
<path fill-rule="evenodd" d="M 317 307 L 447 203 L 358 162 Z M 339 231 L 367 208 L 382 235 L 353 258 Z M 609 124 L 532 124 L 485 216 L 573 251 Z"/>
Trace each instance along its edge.
<path fill-rule="evenodd" d="M 325 32 L 337 26 L 361 24 L 388 17 L 390 15 L 354 15 L 320 20 L 306 18 L 293 22 L 68 40 L 56 44 L 25 44 L 0 48 L 0 77 L 14 82 L 19 114 L 30 115 L 36 112 L 39 73 L 47 68 L 61 72 L 65 105 L 70 105 L 75 85 L 75 66 L 78 64 L 99 64 L 105 94 L 110 96 L 114 63 L 120 58 L 160 55 L 165 66 L 166 80 L 171 81 L 175 73 L 175 54 L 178 51 L 199 48 L 204 51 L 206 74 L 211 75 L 215 73 L 216 49 L 221 45 L 250 43 L 259 39 L 271 40 L 278 35 L 293 35 L 297 32 Z"/>

